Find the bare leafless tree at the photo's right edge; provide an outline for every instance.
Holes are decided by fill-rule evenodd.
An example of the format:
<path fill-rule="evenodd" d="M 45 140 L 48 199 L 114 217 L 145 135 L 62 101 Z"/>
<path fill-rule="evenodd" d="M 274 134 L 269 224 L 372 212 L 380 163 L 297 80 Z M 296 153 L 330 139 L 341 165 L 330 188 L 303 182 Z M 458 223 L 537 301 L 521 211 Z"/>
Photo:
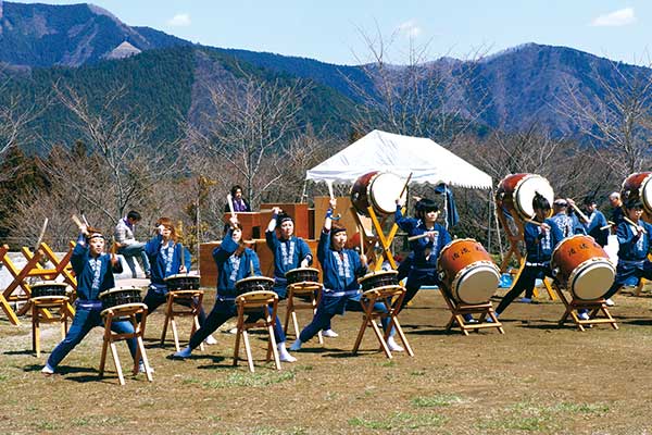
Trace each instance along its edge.
<path fill-rule="evenodd" d="M 652 72 L 620 62 L 592 65 L 592 87 L 565 82 L 561 114 L 572 119 L 603 164 L 619 179 L 648 169 L 652 137 Z M 652 64 L 650 65 L 652 66 Z"/>

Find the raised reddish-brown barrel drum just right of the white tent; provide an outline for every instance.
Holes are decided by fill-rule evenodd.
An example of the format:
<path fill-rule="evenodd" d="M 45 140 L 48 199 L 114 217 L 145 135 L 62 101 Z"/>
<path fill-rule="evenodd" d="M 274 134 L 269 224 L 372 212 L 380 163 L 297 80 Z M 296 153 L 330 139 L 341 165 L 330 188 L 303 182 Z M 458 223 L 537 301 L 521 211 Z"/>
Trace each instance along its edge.
<path fill-rule="evenodd" d="M 535 216 L 532 199 L 539 192 L 552 207 L 554 191 L 548 179 L 536 174 L 512 174 L 504 177 L 496 191 L 496 203 L 514 219 L 523 221 Z"/>

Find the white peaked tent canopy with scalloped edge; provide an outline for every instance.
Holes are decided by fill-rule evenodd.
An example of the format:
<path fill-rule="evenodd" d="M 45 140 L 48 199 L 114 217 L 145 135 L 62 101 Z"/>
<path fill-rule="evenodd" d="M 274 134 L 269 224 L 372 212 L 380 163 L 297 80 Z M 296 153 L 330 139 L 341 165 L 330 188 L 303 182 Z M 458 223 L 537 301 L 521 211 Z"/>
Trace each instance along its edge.
<path fill-rule="evenodd" d="M 352 184 L 372 171 L 392 172 L 413 183 L 490 189 L 491 177 L 434 140 L 375 129 L 309 170 L 305 179 Z"/>

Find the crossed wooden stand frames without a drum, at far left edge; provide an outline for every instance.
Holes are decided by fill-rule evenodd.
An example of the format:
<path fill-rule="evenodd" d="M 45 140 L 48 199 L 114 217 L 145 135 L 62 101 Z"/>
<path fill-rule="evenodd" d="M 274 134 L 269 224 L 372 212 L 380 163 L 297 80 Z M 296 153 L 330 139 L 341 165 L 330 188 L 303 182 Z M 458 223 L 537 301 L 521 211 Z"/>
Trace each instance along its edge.
<path fill-rule="evenodd" d="M 71 243 L 68 251 L 61 260 L 57 258 L 52 249 L 50 249 L 50 247 L 45 243 L 40 244 L 39 249 L 37 249 L 34 253 L 30 252 L 29 249 L 23 248 L 22 252 L 27 259 L 27 264 L 25 264 L 22 270 L 18 270 L 18 268 L 9 258 L 9 248 L 7 246 L 0 248 L 0 262 L 4 264 L 9 273 L 14 277 L 11 284 L 2 291 L 2 297 L 0 298 L 2 310 L 7 313 L 12 324 L 20 324 L 17 316 L 29 311 L 29 299 L 32 296 L 32 289 L 28 284 L 29 278 L 38 277 L 45 281 L 54 281 L 61 275 L 63 281 L 73 287 L 73 290 L 77 289 L 77 281 L 72 275 L 70 269 L 73 248 L 74 244 Z M 43 269 L 39 263 L 42 259 L 49 259 L 54 265 L 54 269 Z M 16 293 L 18 287 L 22 289 L 21 294 Z M 10 307 L 9 302 L 25 302 L 25 306 L 20 310 L 14 311 Z M 70 302 L 67 303 L 67 310 L 71 316 L 75 315 L 75 309 Z M 46 318 L 52 316 L 47 309 L 43 309 L 42 313 L 46 315 Z"/>

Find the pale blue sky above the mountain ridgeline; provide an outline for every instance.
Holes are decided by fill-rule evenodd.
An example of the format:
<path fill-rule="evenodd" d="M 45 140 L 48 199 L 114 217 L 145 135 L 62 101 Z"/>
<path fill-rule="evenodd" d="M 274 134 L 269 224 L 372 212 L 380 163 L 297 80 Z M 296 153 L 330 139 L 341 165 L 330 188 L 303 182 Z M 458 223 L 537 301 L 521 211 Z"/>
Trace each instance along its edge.
<path fill-rule="evenodd" d="M 23 2 L 34 2 L 25 0 Z M 79 1 L 40 0 L 73 4 Z M 213 47 L 337 64 L 369 60 L 361 32 L 388 41 L 404 63 L 412 41 L 430 59 L 491 54 L 525 42 L 565 46 L 649 65 L 652 2 L 643 0 L 95 0 L 131 26 Z"/>

